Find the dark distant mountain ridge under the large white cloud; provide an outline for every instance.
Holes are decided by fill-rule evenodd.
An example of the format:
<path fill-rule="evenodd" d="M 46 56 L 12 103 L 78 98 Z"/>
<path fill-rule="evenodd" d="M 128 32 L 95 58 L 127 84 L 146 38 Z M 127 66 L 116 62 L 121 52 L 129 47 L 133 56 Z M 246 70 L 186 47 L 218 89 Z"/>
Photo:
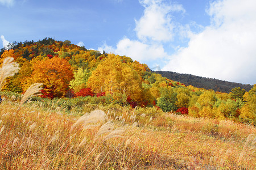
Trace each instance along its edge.
<path fill-rule="evenodd" d="M 154 71 L 168 79 L 175 80 L 177 82 L 184 83 L 186 86 L 192 85 L 197 88 L 205 88 L 205 89 L 212 89 L 214 91 L 220 92 L 231 92 L 232 88 L 241 87 L 244 88 L 246 91 L 251 90 L 253 86 L 250 84 L 241 84 L 241 83 L 232 83 L 218 79 L 212 78 L 204 78 L 201 76 L 191 75 L 191 74 L 180 74 L 175 73 L 172 71 Z"/>

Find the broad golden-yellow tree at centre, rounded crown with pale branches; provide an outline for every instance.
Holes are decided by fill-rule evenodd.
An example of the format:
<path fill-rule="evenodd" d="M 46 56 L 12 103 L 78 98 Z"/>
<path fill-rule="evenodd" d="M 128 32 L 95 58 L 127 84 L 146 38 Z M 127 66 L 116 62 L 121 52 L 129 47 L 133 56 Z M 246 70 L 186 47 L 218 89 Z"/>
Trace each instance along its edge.
<path fill-rule="evenodd" d="M 94 92 L 106 92 L 117 100 L 120 96 L 130 96 L 135 101 L 141 100 L 142 82 L 137 71 L 114 54 L 109 54 L 88 79 L 87 87 Z M 121 94 L 121 95 L 120 95 Z"/>

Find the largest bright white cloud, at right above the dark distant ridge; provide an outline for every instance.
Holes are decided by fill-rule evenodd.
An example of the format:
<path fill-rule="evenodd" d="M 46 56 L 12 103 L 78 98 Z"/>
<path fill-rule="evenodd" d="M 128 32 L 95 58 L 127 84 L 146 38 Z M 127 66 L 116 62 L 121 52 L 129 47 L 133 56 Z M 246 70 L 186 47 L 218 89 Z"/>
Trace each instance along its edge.
<path fill-rule="evenodd" d="M 163 70 L 256 83 L 256 1 L 216 1 L 207 12 L 212 24 L 192 33 Z"/>

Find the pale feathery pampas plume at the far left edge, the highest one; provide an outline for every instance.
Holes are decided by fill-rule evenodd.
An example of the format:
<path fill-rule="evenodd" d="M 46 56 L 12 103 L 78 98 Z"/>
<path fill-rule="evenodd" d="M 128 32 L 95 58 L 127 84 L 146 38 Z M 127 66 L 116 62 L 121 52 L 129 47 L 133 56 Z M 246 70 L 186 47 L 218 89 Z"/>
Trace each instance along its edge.
<path fill-rule="evenodd" d="M 19 64 L 13 61 L 13 57 L 6 57 L 3 60 L 2 67 L 0 68 L 0 91 L 5 85 L 5 79 L 9 76 L 14 76 L 20 69 Z"/>

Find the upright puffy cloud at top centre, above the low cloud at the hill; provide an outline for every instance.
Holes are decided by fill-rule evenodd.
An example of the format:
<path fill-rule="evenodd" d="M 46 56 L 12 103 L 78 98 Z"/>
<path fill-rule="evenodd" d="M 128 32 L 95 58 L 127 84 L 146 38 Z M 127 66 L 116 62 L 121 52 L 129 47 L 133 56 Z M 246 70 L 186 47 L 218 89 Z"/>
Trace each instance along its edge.
<path fill-rule="evenodd" d="M 181 5 L 167 4 L 163 1 L 143 0 L 144 15 L 136 22 L 135 31 L 140 40 L 168 41 L 173 37 L 174 23 L 170 12 L 185 12 Z"/>

